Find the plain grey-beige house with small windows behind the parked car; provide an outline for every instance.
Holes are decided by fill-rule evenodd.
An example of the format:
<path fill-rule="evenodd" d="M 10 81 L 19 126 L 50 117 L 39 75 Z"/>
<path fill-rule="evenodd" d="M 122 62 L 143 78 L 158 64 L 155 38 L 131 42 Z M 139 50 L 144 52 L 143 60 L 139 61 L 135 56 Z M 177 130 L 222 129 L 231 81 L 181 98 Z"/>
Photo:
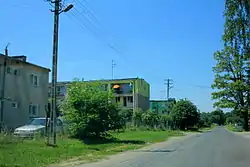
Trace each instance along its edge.
<path fill-rule="evenodd" d="M 0 54 L 0 122 L 15 128 L 32 117 L 45 116 L 49 72 L 27 62 L 26 56 Z"/>

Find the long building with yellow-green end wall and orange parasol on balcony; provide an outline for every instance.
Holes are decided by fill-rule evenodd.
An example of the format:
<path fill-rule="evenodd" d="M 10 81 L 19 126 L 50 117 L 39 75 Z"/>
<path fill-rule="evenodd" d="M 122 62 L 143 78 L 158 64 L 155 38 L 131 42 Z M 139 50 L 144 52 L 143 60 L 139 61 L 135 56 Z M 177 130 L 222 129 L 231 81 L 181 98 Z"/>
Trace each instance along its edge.
<path fill-rule="evenodd" d="M 150 85 L 142 78 L 125 78 L 113 80 L 91 80 L 83 82 L 100 82 L 104 88 L 114 91 L 114 102 L 123 109 L 149 110 Z M 60 103 L 66 95 L 67 86 L 71 82 L 57 83 L 57 102 Z M 51 85 L 49 97 L 51 97 Z"/>

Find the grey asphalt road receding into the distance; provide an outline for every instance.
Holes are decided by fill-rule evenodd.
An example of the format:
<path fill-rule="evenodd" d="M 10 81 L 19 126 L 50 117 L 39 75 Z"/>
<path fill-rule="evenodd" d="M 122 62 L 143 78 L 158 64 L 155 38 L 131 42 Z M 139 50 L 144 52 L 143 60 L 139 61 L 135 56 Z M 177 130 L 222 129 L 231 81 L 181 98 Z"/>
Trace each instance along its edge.
<path fill-rule="evenodd" d="M 218 127 L 78 167 L 250 167 L 250 139 Z"/>

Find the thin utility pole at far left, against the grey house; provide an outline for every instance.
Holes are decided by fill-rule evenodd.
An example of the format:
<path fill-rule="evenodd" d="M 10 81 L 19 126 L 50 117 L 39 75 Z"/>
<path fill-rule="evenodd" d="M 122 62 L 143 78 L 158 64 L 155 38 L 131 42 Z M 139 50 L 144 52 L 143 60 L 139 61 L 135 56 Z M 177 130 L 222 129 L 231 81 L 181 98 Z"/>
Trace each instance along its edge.
<path fill-rule="evenodd" d="M 5 79 L 6 79 L 6 66 L 7 66 L 7 59 L 8 59 L 8 46 L 9 43 L 7 44 L 7 46 L 4 49 L 4 61 L 3 61 L 3 78 L 2 78 L 2 83 L 1 83 L 1 111 L 0 111 L 0 116 L 1 116 L 1 120 L 0 120 L 0 132 L 2 132 L 3 128 L 4 128 L 4 91 L 5 91 Z"/>

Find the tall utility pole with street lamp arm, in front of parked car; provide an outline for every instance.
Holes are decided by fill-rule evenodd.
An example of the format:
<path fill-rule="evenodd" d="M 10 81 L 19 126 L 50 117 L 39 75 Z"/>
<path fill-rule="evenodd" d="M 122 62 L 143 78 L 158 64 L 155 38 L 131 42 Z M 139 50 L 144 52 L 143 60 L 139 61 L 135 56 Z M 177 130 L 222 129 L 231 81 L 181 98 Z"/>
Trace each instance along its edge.
<path fill-rule="evenodd" d="M 68 12 L 73 5 L 68 5 L 65 9 L 62 9 L 62 0 L 47 0 L 51 4 L 54 4 L 54 33 L 53 33 L 53 59 L 52 59 L 52 84 L 51 84 L 51 113 L 50 113 L 50 132 L 53 134 L 53 143 L 56 145 L 56 83 L 57 83 L 57 58 L 58 58 L 58 29 L 59 29 L 59 15 L 62 12 Z M 49 135 L 48 135 L 49 137 Z M 51 144 L 51 143 L 48 143 Z"/>

